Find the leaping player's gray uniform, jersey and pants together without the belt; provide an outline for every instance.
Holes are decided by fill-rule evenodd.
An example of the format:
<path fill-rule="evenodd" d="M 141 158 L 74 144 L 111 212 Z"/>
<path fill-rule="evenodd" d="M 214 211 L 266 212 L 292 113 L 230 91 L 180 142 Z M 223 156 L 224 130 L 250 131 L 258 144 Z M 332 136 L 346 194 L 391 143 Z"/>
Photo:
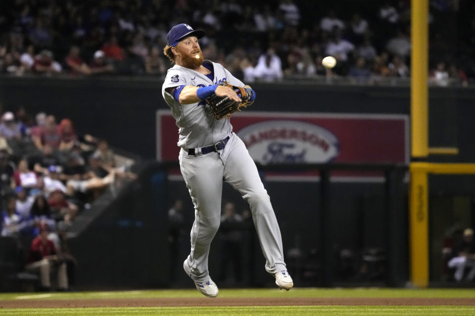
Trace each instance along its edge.
<path fill-rule="evenodd" d="M 208 62 L 209 61 L 205 61 Z M 175 65 L 168 70 L 162 95 L 179 127 L 180 170 L 190 192 L 195 219 L 190 233 L 191 251 L 184 262 L 185 272 L 195 282 L 211 280 L 208 254 L 218 231 L 221 216 L 223 179 L 239 191 L 249 203 L 254 225 L 266 258 L 265 269 L 271 274 L 286 270 L 282 237 L 270 197 L 259 177 L 256 165 L 242 140 L 232 133 L 229 118 L 217 120 L 204 101 L 183 105 L 166 88 L 180 85 L 209 86 L 228 81 L 244 86 L 223 66 L 212 63 L 214 79 Z M 200 147 L 209 146 L 229 136 L 218 152 L 201 154 Z M 197 149 L 190 154 L 189 149 Z"/>

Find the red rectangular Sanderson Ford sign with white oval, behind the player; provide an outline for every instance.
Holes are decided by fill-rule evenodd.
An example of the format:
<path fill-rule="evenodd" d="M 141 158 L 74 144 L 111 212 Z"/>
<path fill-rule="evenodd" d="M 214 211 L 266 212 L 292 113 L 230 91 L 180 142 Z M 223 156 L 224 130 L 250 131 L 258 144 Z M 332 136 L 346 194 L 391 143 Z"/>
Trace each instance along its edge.
<path fill-rule="evenodd" d="M 406 115 L 240 112 L 233 130 L 260 163 L 407 163 Z M 178 160 L 171 112 L 157 112 L 157 159 Z"/>

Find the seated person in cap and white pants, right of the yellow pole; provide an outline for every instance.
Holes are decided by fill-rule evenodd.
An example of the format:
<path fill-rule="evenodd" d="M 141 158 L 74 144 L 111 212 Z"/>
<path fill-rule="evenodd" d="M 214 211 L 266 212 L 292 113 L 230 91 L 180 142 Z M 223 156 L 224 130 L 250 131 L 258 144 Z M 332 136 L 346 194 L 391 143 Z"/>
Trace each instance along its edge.
<path fill-rule="evenodd" d="M 447 263 L 449 268 L 455 269 L 454 279 L 460 282 L 465 270 L 469 269 L 466 276 L 468 281 L 473 281 L 475 278 L 475 242 L 474 230 L 467 228 L 464 230 L 462 240 L 457 240 L 452 247 L 453 258 Z"/>

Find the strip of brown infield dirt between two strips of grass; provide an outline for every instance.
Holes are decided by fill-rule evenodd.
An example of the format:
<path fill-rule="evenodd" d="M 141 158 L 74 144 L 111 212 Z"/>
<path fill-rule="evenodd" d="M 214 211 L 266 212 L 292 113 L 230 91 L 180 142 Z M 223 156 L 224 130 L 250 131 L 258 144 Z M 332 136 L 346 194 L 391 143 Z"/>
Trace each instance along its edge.
<path fill-rule="evenodd" d="M 141 298 L 72 300 L 3 300 L 0 308 L 74 307 L 186 307 L 186 306 L 294 306 L 294 305 L 464 305 L 475 298 Z"/>

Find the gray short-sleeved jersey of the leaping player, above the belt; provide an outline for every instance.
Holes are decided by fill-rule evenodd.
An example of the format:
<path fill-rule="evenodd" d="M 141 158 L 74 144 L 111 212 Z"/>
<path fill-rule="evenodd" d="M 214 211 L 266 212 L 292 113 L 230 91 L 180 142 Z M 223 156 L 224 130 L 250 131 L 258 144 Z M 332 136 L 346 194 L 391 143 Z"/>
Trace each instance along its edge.
<path fill-rule="evenodd" d="M 182 148 L 214 144 L 226 138 L 233 130 L 233 126 L 231 126 L 229 118 L 217 120 L 205 101 L 184 105 L 177 102 L 173 95 L 166 92 L 165 89 L 179 85 L 205 87 L 220 84 L 223 81 L 228 81 L 236 86 L 244 86 L 244 83 L 231 75 L 221 64 L 209 60 L 205 60 L 203 63 L 210 63 L 213 66 L 213 80 L 194 70 L 175 65 L 168 70 L 162 85 L 163 98 L 172 110 L 172 115 L 179 127 L 178 146 Z"/>

